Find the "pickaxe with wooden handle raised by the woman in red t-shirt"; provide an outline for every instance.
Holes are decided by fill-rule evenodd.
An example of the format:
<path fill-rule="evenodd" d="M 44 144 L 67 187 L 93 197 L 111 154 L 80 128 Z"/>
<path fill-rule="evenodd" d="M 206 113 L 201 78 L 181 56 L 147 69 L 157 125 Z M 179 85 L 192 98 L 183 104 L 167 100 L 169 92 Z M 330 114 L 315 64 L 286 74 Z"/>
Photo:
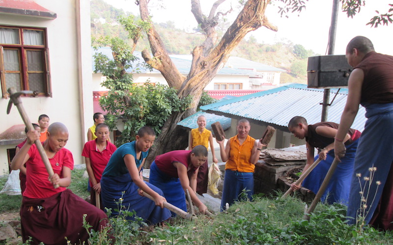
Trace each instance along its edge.
<path fill-rule="evenodd" d="M 28 115 L 26 114 L 25 108 L 22 105 L 22 100 L 20 97 L 21 94 L 30 94 L 33 92 L 32 91 L 16 92 L 16 90 L 14 88 L 9 88 L 8 93 L 9 93 L 10 101 L 9 101 L 8 107 L 7 107 L 7 114 L 9 114 L 9 112 L 11 111 L 11 107 L 12 107 L 12 103 L 13 103 L 18 108 L 19 114 L 21 114 L 22 120 L 23 120 L 23 122 L 25 122 L 25 125 L 28 128 L 28 130 L 29 131 L 34 130 L 33 125 L 31 124 L 30 120 L 28 119 Z M 49 159 L 45 153 L 44 147 L 42 146 L 39 139 L 35 140 L 34 144 L 37 146 L 38 152 L 40 153 L 42 161 L 45 164 L 46 171 L 49 174 L 49 178 L 51 178 L 55 174 L 55 172 L 53 172 L 52 165 L 49 162 Z M 55 184 L 54 187 L 57 188 L 57 187 L 59 187 L 59 185 Z"/>

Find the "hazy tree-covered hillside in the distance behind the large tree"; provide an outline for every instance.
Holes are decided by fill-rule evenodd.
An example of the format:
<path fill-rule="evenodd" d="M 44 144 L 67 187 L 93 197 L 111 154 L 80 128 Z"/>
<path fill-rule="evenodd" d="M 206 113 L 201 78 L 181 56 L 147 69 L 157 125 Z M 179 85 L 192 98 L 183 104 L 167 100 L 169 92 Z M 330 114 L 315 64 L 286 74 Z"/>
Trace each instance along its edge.
<path fill-rule="evenodd" d="M 129 40 L 128 33 L 117 19 L 121 15 L 130 13 L 114 8 L 103 0 L 91 0 L 90 7 L 92 37 L 109 35 Z M 154 23 L 154 25 L 169 54 L 190 54 L 204 39 L 204 36 L 198 32 L 186 33 L 176 29 L 173 22 Z M 137 50 L 141 51 L 144 48 L 149 48 L 146 38 L 140 40 Z M 307 83 L 307 57 L 315 54 L 299 44 L 261 44 L 251 36 L 249 40 L 243 39 L 231 55 L 287 70 L 287 73 L 281 74 L 281 83 Z"/>

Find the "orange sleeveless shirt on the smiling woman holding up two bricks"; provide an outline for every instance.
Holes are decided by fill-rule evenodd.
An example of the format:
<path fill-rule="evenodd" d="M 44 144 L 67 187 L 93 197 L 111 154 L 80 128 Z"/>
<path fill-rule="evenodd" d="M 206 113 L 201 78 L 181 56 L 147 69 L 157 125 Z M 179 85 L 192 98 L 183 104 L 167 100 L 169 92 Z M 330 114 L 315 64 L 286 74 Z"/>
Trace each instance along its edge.
<path fill-rule="evenodd" d="M 238 135 L 229 139 L 229 158 L 226 161 L 225 169 L 239 171 L 243 173 L 253 173 L 255 165 L 250 162 L 251 152 L 255 144 L 255 139 L 247 136 L 243 144 L 240 145 Z"/>

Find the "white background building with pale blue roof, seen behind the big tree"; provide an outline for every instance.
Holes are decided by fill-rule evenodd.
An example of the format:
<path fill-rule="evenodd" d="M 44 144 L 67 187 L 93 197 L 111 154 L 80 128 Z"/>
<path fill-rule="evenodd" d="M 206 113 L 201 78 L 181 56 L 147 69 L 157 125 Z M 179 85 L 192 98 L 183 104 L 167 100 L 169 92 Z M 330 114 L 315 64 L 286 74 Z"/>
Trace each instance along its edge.
<path fill-rule="evenodd" d="M 100 48 L 98 51 L 93 50 L 92 54 L 96 52 L 113 59 L 110 48 Z M 140 57 L 140 52 L 135 52 L 134 55 L 138 56 L 140 61 L 143 61 Z M 170 55 L 170 58 L 180 73 L 187 76 L 191 68 L 192 56 Z M 152 84 L 168 84 L 158 70 L 139 68 L 139 73 L 133 73 L 134 83 L 143 84 L 149 81 Z M 133 71 L 130 69 L 128 72 Z M 253 92 L 264 91 L 279 87 L 281 72 L 286 71 L 243 58 L 230 57 L 225 66 L 206 86 L 205 91 L 212 97 L 218 99 L 221 99 L 225 95 L 242 96 Z M 97 112 L 102 112 L 99 108 L 98 99 L 106 91 L 100 85 L 103 79 L 105 77 L 101 73 L 93 73 L 94 110 Z"/>

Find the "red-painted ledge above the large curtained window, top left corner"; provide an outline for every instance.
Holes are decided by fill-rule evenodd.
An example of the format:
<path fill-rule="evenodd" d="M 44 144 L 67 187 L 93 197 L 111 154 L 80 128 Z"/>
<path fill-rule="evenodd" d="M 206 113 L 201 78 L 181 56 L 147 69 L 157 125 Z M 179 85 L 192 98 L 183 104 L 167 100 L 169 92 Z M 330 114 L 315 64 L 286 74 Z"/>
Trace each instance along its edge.
<path fill-rule="evenodd" d="M 56 19 L 57 14 L 32 0 L 0 0 L 0 13 Z"/>

